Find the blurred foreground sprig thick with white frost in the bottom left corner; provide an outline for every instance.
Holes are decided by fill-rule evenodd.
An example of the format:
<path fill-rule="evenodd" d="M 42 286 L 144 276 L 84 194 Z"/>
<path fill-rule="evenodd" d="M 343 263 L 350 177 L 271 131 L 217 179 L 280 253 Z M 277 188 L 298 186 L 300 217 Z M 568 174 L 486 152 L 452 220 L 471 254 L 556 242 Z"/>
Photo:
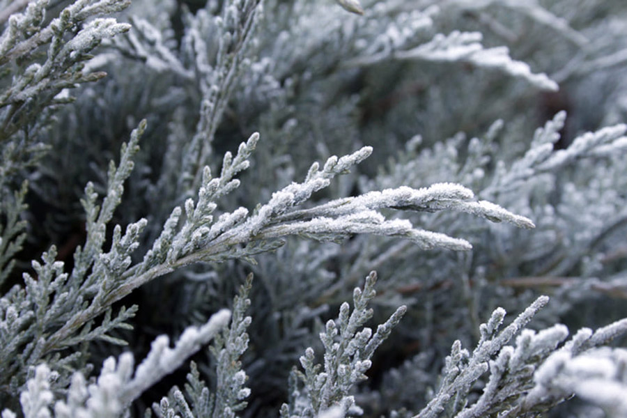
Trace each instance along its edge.
<path fill-rule="evenodd" d="M 230 317 L 230 312 L 223 309 L 213 314 L 205 325 L 187 327 L 174 348 L 169 348 L 167 336 L 158 336 L 135 370 L 133 355 L 124 353 L 117 361 L 114 357 L 106 359 L 95 382 L 89 383 L 82 373 L 75 373 L 65 399 L 56 402 L 50 382 L 58 378 L 59 373 L 51 371 L 47 364 L 40 364 L 20 394 L 22 412 L 27 418 L 50 417 L 51 409 L 56 418 L 119 417 L 148 387 L 178 369 L 189 356 L 214 338 L 229 323 Z M 10 410 L 2 411 L 3 418 L 15 416 Z"/>

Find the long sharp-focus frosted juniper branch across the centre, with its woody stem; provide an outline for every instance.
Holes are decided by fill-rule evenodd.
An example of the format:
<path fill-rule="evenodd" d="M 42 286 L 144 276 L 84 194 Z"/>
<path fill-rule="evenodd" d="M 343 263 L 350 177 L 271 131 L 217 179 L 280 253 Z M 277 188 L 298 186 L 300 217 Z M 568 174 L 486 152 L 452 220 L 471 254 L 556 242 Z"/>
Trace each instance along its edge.
<path fill-rule="evenodd" d="M 435 185 L 431 189 L 418 191 L 401 187 L 396 190 L 373 192 L 357 196 L 354 198 L 354 203 L 350 203 L 350 199 L 348 201 L 341 199 L 320 206 L 322 208 L 320 213 L 327 215 L 326 217 L 311 217 L 307 221 L 288 222 L 290 219 L 300 217 L 291 215 L 293 208 L 307 201 L 314 192 L 327 187 L 334 176 L 345 173 L 353 165 L 362 162 L 371 154 L 370 147 L 364 147 L 341 158 L 330 157 L 322 169 L 317 163 L 312 164 L 303 183 L 292 183 L 279 192 L 275 192 L 272 199 L 251 216 L 248 216 L 247 210 L 239 208 L 234 212 L 223 214 L 217 222 L 213 222 L 213 217 L 210 215 L 216 208 L 213 200 L 238 187 L 238 180 L 233 180 L 233 176 L 248 167 L 247 157 L 254 150 L 257 138 L 258 136 L 254 134 L 247 143 L 242 143 L 238 155 L 234 158 L 230 153 L 225 155 L 220 178 L 211 178 L 208 169 L 203 171 L 203 185 L 199 191 L 199 199 L 195 205 L 192 199 L 185 203 L 187 219 L 181 229 L 175 232 L 180 217 L 180 209 L 175 209 L 164 226 L 162 236 L 155 242 L 153 249 L 146 254 L 144 261 L 119 272 L 118 277 L 109 281 L 109 284 L 104 286 L 106 291 L 99 291 L 87 309 L 79 312 L 50 338 L 48 349 L 68 339 L 68 336 L 82 326 L 82 323 L 98 316 L 104 307 L 120 300 L 155 277 L 199 261 L 219 262 L 235 256 L 244 258 L 247 256 L 246 249 L 235 253 L 232 251 L 239 245 L 251 242 L 265 242 L 287 235 L 305 235 L 309 238 L 328 240 L 353 233 L 373 233 L 407 238 L 426 249 L 433 247 L 470 249 L 471 247 L 470 243 L 465 240 L 414 229 L 408 221 L 387 220 L 373 209 L 385 207 L 415 209 L 424 206 L 430 208 L 436 207 L 438 203 L 445 208 L 447 202 L 452 202 L 460 210 L 474 212 L 488 219 L 507 220 L 518 226 L 533 226 L 528 219 L 513 215 L 497 206 L 493 207 L 481 204 L 481 202 L 455 202 L 456 199 L 463 200 L 472 196 L 470 190 L 458 185 Z M 312 210 L 315 211 L 316 208 Z M 297 215 L 302 215 L 302 212 Z M 139 224 L 137 228 L 141 229 L 142 225 Z M 271 248 L 268 247 L 268 249 Z M 251 249 L 249 254 L 256 254 L 254 251 Z"/>

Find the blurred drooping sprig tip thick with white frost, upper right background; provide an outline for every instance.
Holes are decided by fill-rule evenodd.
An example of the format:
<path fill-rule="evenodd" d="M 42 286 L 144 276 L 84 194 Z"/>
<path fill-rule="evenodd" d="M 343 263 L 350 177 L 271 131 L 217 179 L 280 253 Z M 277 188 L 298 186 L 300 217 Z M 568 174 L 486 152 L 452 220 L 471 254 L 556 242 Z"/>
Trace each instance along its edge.
<path fill-rule="evenodd" d="M 432 40 L 418 47 L 357 57 L 347 61 L 346 65 L 373 65 L 389 59 L 435 62 L 460 61 L 478 67 L 501 70 L 513 77 L 525 79 L 543 90 L 556 91 L 558 89 L 557 83 L 544 73 L 536 74 L 532 72 L 527 63 L 511 59 L 507 47 L 485 48 L 481 45 L 482 39 L 483 36 L 479 32 L 453 31 L 448 35 L 438 33 Z"/>

